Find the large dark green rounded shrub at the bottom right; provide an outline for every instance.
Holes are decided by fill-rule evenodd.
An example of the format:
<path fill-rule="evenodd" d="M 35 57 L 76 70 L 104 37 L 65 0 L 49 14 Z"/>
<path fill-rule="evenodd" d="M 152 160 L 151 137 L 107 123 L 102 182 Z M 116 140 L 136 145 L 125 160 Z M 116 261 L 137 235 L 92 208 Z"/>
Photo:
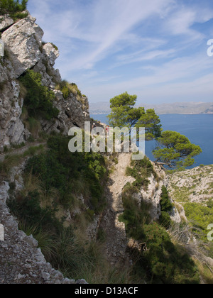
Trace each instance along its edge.
<path fill-rule="evenodd" d="M 199 284 L 200 277 L 195 263 L 171 241 L 165 228 L 153 223 L 143 226 L 146 251 L 138 256 L 137 270 L 146 268 L 151 283 Z"/>

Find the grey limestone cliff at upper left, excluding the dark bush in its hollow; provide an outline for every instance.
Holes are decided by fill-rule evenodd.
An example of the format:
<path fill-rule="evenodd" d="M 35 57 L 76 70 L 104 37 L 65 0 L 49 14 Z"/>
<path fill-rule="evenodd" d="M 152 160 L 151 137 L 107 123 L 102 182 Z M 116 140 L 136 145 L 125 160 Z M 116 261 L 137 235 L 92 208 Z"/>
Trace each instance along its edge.
<path fill-rule="evenodd" d="M 43 30 L 28 16 L 16 23 L 7 16 L 0 16 L 1 39 L 4 41 L 5 56 L 0 59 L 0 150 L 11 143 L 19 144 L 31 136 L 25 127 L 23 112 L 24 92 L 18 78 L 27 70 L 39 72 L 42 84 L 55 93 L 54 106 L 59 114 L 51 121 L 40 117 L 43 131 L 67 131 L 72 126 L 84 126 L 89 121 L 89 104 L 86 96 L 70 92 L 64 98 L 55 89 L 61 82 L 59 70 L 54 69 L 59 56 L 58 48 L 51 43 L 43 43 Z"/>

